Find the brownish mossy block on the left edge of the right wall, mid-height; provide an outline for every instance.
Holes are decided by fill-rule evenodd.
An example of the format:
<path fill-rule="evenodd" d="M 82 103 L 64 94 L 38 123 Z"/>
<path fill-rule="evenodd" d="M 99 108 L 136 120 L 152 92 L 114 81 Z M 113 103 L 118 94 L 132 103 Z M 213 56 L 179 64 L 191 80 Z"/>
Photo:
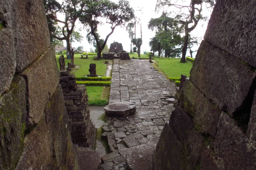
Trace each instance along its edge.
<path fill-rule="evenodd" d="M 183 111 L 193 116 L 200 133 L 215 136 L 221 111 L 190 81 L 186 82 L 180 95 L 180 106 Z"/>

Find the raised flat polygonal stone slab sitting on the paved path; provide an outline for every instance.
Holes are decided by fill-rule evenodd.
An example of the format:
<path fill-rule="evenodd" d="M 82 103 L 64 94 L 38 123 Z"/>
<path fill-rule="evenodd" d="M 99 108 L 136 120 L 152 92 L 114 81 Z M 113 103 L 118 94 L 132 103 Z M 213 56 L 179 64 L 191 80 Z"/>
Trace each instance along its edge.
<path fill-rule="evenodd" d="M 107 116 L 123 118 L 133 114 L 136 107 L 131 102 L 114 102 L 104 107 Z"/>

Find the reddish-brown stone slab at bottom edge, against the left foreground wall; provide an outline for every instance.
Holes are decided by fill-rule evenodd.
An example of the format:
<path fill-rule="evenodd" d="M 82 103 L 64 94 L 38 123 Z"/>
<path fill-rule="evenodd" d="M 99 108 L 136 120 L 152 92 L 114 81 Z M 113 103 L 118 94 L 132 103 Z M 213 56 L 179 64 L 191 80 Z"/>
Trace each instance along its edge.
<path fill-rule="evenodd" d="M 79 167 L 81 170 L 98 170 L 99 153 L 88 147 L 76 147 Z"/>

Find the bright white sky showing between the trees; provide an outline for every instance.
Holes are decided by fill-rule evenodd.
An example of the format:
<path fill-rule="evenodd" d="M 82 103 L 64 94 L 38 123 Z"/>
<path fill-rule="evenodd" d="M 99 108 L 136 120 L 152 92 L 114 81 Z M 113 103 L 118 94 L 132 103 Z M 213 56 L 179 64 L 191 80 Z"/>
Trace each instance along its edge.
<path fill-rule="evenodd" d="M 59 1 L 61 1 L 61 0 L 59 0 Z M 117 2 L 118 0 L 112 0 L 112 1 Z M 160 15 L 162 14 L 162 9 L 158 13 L 154 12 L 157 0 L 128 0 L 128 1 L 130 2 L 131 7 L 134 8 L 136 16 L 140 17 L 141 22 L 142 22 L 143 44 L 141 46 L 141 53 L 143 53 L 143 51 L 150 51 L 148 42 L 150 41 L 150 38 L 154 37 L 155 31 L 151 31 L 148 29 L 148 22 L 151 18 L 160 17 Z M 186 1 L 190 2 L 190 0 L 186 0 Z M 187 4 L 189 5 L 189 3 L 187 3 Z M 142 13 L 136 11 L 139 8 L 142 9 Z M 173 11 L 176 9 L 169 8 L 168 10 Z M 204 10 L 203 16 L 207 15 L 208 19 L 209 19 L 211 11 L 207 10 L 207 8 L 205 6 L 203 6 L 203 10 Z M 77 21 L 76 22 L 76 31 L 78 30 L 78 28 L 83 28 L 83 26 Z M 201 37 L 201 39 L 199 41 L 199 42 L 201 42 L 202 38 L 204 37 L 206 28 L 207 28 L 207 22 L 200 20 L 198 26 L 195 28 L 195 30 L 193 30 L 191 32 L 191 34 L 194 37 Z M 103 26 L 98 26 L 98 33 L 102 39 L 105 39 L 106 35 L 109 34 L 110 31 L 111 31 L 110 25 L 107 23 Z M 90 48 L 94 49 L 94 47 L 87 42 L 86 29 L 82 29 L 82 31 L 80 33 L 82 34 L 84 39 L 81 41 L 81 43 L 73 42 L 72 46 L 73 47 L 83 46 L 84 51 L 90 51 Z M 136 33 L 137 33 L 136 37 L 137 38 L 140 37 L 140 26 L 139 25 L 137 26 Z M 130 52 L 131 40 L 129 39 L 129 35 L 128 35 L 128 32 L 126 32 L 125 27 L 123 27 L 123 28 L 121 28 L 120 26 L 116 27 L 113 34 L 111 34 L 111 36 L 108 38 L 108 42 L 107 42 L 108 47 L 110 47 L 110 44 L 113 41 L 122 43 L 123 49 L 125 51 Z M 66 46 L 66 42 L 64 42 L 64 45 Z M 195 50 L 197 50 L 198 47 L 199 47 L 199 45 L 193 47 L 192 50 L 195 51 Z M 187 53 L 187 55 L 189 55 L 189 53 Z M 193 55 L 195 56 L 195 53 Z"/>

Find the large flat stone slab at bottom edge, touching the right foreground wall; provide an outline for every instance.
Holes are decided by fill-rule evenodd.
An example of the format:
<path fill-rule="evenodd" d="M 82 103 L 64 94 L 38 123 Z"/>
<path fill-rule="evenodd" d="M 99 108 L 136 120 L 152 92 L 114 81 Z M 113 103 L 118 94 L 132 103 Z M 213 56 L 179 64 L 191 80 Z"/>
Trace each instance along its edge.
<path fill-rule="evenodd" d="M 131 170 L 149 170 L 155 147 L 154 144 L 141 144 L 119 150 L 119 153 Z"/>

